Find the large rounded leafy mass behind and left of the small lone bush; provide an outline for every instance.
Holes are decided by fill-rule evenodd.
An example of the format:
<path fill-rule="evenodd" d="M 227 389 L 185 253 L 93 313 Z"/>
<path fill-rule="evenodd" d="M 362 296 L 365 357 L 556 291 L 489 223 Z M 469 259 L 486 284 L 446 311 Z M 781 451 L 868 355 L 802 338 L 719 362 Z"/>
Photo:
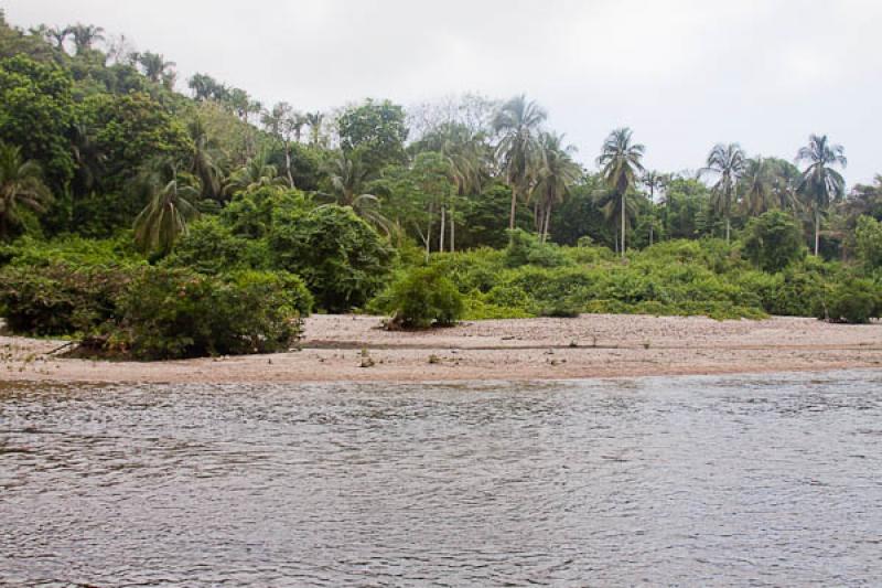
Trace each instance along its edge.
<path fill-rule="evenodd" d="M 386 281 L 394 250 L 352 209 L 278 211 L 269 235 L 275 267 L 301 276 L 330 312 L 362 307 Z"/>

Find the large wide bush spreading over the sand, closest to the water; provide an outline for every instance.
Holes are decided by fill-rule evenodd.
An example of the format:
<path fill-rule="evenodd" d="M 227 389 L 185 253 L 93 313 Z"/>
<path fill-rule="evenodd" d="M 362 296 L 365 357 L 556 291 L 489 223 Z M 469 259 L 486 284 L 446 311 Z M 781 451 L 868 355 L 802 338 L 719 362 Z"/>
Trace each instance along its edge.
<path fill-rule="evenodd" d="M 108 340 L 140 360 L 284 351 L 310 303 L 295 276 L 149 268 L 122 297 Z"/>

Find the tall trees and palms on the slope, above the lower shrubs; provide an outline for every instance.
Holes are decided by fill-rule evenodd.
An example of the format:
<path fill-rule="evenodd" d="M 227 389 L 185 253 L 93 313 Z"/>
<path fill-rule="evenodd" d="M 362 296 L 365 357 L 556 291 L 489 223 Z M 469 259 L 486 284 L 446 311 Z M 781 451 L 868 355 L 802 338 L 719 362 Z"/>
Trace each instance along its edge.
<path fill-rule="evenodd" d="M 192 76 L 185 96 L 173 62 L 90 24 L 25 32 L 3 22 L 0 56 L 6 239 L 131 228 L 144 250 L 168 253 L 200 214 L 273 185 L 351 206 L 427 253 L 501 245 L 506 227 L 521 227 L 624 256 L 671 237 L 729 242 L 733 227 L 778 209 L 829 257 L 853 249 L 856 217 L 879 207 L 882 190 L 876 181 L 847 193 L 843 148 L 822 135 L 794 160 L 720 143 L 685 175 L 646 170 L 645 146 L 622 128 L 590 171 L 525 96 L 302 113 L 207 74 Z"/>

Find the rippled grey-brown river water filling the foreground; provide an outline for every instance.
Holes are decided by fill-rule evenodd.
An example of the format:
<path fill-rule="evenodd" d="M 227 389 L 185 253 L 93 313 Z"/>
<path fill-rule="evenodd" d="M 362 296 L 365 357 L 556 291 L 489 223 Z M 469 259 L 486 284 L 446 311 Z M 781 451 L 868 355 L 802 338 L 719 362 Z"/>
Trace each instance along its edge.
<path fill-rule="evenodd" d="M 882 585 L 882 372 L 0 383 L 0 585 Z"/>

